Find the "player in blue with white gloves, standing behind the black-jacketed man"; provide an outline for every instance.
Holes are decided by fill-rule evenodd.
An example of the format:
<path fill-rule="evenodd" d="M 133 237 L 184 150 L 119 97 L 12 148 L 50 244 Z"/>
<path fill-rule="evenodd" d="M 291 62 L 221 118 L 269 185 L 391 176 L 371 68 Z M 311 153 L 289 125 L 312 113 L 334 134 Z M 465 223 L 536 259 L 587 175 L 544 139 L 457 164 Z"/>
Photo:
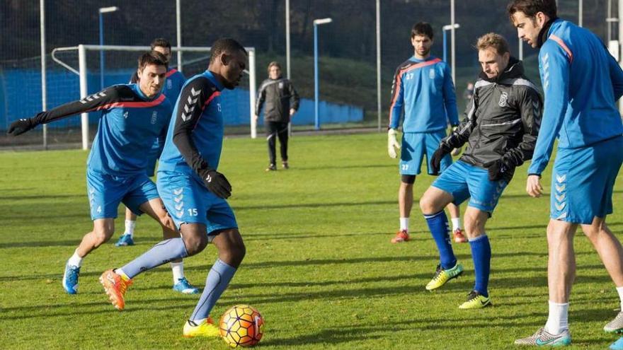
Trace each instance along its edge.
<path fill-rule="evenodd" d="M 396 129 L 399 127 L 401 112 L 404 110 L 399 163 L 401 182 L 398 191 L 400 229 L 391 239 L 391 243 L 409 240 L 408 223 L 413 206 L 413 184 L 416 182 L 416 175 L 421 173 L 424 155 L 428 160 L 428 174 L 432 174 L 430 159 L 439 141 L 446 136 L 446 115 L 452 126 L 459 124 L 457 98 L 450 67 L 430 54 L 430 47 L 433 46 L 433 27 L 425 22 L 413 25 L 411 45 L 413 57 L 398 66 L 391 86 L 387 132 L 388 152 L 391 158 L 396 158 L 396 148 L 401 148 L 396 140 Z M 450 164 L 452 158 L 447 155 L 443 158 L 441 170 L 445 170 Z M 467 242 L 461 229 L 459 207 L 448 204 L 448 210 L 452 217 L 455 242 Z"/>

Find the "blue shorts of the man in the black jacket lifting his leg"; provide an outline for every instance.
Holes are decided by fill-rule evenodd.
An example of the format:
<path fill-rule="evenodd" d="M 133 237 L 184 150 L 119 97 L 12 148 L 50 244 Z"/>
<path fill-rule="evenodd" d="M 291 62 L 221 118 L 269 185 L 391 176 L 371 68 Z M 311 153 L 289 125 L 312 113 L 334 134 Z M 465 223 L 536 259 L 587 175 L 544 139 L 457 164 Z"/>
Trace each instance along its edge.
<path fill-rule="evenodd" d="M 508 182 L 491 181 L 488 176 L 486 169 L 464 161 L 457 161 L 450 165 L 431 186 L 452 194 L 452 203 L 457 205 L 471 197 L 468 206 L 491 214 L 493 209 L 496 209 L 498 199 Z"/>

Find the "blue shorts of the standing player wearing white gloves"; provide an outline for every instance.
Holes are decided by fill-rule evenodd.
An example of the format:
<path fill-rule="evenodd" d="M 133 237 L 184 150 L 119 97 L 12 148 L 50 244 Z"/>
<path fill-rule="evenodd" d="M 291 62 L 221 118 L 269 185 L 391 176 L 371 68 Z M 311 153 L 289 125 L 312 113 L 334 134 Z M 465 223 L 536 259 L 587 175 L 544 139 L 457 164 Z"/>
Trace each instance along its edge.
<path fill-rule="evenodd" d="M 430 158 L 433 157 L 433 153 L 439 148 L 441 139 L 444 137 L 445 130 L 402 134 L 400 175 L 420 175 L 424 156 L 426 156 L 426 165 L 428 165 L 428 175 L 432 175 L 430 173 Z M 450 164 L 452 164 L 452 157 L 448 154 L 441 160 L 440 171 L 445 170 Z"/>

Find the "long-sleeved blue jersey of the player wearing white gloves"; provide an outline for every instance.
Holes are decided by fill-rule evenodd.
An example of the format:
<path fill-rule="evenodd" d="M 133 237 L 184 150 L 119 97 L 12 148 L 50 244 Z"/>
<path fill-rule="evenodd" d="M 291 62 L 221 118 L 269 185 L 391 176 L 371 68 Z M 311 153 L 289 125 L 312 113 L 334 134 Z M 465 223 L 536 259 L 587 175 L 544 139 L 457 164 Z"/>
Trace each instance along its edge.
<path fill-rule="evenodd" d="M 450 67 L 441 59 L 411 57 L 396 69 L 391 86 L 389 127 L 396 129 L 404 108 L 403 132 L 435 132 L 458 125 L 457 97 Z"/>

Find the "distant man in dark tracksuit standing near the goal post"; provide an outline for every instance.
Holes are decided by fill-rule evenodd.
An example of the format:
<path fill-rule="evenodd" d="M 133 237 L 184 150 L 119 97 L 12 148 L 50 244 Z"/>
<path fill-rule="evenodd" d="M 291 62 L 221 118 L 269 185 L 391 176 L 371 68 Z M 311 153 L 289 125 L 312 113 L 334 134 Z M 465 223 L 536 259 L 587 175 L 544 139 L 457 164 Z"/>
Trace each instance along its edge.
<path fill-rule="evenodd" d="M 262 82 L 256 103 L 255 119 L 258 119 L 262 105 L 264 108 L 264 125 L 268 140 L 268 168 L 266 171 L 277 170 L 275 162 L 275 146 L 277 138 L 280 144 L 281 166 L 290 168 L 287 163 L 287 126 L 299 108 L 299 94 L 292 82 L 281 76 L 279 62 L 268 64 L 268 79 Z"/>

